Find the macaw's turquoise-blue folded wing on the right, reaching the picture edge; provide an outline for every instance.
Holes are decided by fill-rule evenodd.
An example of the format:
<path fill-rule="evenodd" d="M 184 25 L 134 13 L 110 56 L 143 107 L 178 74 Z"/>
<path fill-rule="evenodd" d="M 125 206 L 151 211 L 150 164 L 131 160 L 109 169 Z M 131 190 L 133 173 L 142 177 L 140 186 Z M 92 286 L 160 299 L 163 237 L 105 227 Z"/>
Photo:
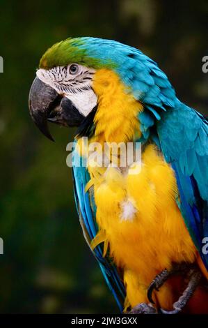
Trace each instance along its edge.
<path fill-rule="evenodd" d="M 180 103 L 167 110 L 157 131 L 163 156 L 175 170 L 179 208 L 208 269 L 203 239 L 208 237 L 208 121 Z"/>

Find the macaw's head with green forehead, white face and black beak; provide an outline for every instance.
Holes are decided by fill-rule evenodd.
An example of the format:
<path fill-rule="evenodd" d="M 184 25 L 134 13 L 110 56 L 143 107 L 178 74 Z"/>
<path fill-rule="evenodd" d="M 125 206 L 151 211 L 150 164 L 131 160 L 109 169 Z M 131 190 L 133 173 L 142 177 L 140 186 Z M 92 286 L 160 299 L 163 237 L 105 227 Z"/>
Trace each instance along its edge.
<path fill-rule="evenodd" d="M 31 118 L 50 140 L 47 122 L 62 126 L 79 126 L 97 107 L 93 77 L 100 68 L 113 68 L 115 61 L 106 56 L 111 40 L 68 38 L 49 48 L 29 94 Z M 101 47 L 102 46 L 102 47 Z M 104 55 L 105 54 L 105 55 Z"/>

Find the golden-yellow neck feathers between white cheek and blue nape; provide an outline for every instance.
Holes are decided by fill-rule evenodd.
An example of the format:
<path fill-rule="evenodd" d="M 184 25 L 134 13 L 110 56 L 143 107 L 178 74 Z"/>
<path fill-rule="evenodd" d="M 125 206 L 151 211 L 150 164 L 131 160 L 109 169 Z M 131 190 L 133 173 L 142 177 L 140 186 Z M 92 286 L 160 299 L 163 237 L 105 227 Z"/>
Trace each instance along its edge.
<path fill-rule="evenodd" d="M 138 112 L 141 103 L 128 92 L 127 87 L 112 70 L 97 70 L 93 78 L 93 89 L 98 97 L 95 114 L 95 139 L 97 142 L 128 142 L 140 137 Z"/>

